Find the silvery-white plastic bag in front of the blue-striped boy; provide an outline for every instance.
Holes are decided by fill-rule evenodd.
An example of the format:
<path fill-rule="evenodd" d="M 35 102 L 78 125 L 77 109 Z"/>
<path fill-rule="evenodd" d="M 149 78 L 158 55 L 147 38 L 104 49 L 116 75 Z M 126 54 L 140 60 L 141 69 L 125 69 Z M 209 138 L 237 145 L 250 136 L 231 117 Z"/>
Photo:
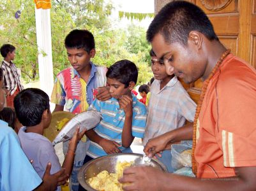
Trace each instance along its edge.
<path fill-rule="evenodd" d="M 80 131 L 84 131 L 84 129 L 92 129 L 96 127 L 100 122 L 101 115 L 98 111 L 84 111 L 79 113 L 75 117 L 73 117 L 66 125 L 64 125 L 63 129 L 57 134 L 54 141 L 52 141 L 52 145 L 56 145 L 57 143 L 61 143 L 63 141 L 67 141 L 73 137 L 75 129 L 80 127 Z"/>

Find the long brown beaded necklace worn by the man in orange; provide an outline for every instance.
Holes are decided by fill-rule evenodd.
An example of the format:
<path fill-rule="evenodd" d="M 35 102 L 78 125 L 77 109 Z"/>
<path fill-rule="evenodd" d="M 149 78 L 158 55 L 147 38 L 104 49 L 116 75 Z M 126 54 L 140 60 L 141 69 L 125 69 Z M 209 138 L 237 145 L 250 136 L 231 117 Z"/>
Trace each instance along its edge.
<path fill-rule="evenodd" d="M 201 92 L 201 95 L 200 95 L 200 99 L 199 99 L 199 101 L 197 103 L 197 110 L 195 110 L 195 118 L 194 118 L 194 122 L 193 122 L 193 147 L 192 147 L 192 171 L 193 171 L 193 173 L 195 175 L 197 174 L 197 162 L 195 161 L 195 145 L 197 144 L 196 143 L 197 120 L 199 118 L 199 113 L 200 113 L 200 110 L 201 110 L 202 102 L 204 101 L 204 95 L 206 95 L 206 90 L 207 90 L 209 81 L 211 80 L 213 75 L 216 73 L 216 71 L 220 67 L 220 64 L 222 64 L 222 62 L 225 59 L 225 57 L 227 57 L 227 55 L 229 55 L 229 53 L 230 53 L 230 49 L 227 49 L 222 54 L 222 56 L 220 57 L 220 59 L 216 63 L 215 67 L 211 71 L 211 74 L 209 74 L 209 76 L 206 79 L 206 81 L 204 81 L 204 84 L 202 86 L 202 92 Z"/>

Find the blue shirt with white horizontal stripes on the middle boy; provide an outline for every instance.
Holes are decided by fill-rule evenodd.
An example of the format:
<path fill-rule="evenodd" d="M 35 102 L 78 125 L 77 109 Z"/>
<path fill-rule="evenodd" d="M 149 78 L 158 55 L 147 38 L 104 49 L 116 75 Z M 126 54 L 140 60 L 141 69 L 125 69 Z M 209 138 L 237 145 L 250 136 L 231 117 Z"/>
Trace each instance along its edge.
<path fill-rule="evenodd" d="M 140 103 L 135 95 L 133 99 L 133 118 L 132 118 L 132 135 L 137 138 L 144 137 L 146 127 L 147 108 L 144 104 Z M 116 141 L 122 145 L 122 132 L 124 126 L 125 113 L 124 110 L 119 110 L 119 103 L 117 99 L 111 98 L 107 101 L 94 100 L 88 110 L 95 110 L 102 114 L 102 121 L 98 124 L 94 131 L 96 134 L 104 139 Z M 124 150 L 124 147 L 119 147 L 119 150 Z M 92 158 L 107 155 L 103 148 L 90 141 L 87 155 Z"/>

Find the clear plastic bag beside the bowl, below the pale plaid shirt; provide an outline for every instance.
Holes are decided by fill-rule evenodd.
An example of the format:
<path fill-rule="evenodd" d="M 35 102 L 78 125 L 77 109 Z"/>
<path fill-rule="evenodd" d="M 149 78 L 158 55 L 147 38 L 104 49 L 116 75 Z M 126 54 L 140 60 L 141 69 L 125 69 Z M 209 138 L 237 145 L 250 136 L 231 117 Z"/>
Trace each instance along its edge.
<path fill-rule="evenodd" d="M 188 144 L 172 145 L 170 153 L 172 154 L 172 167 L 176 170 L 183 167 L 192 167 L 192 146 Z"/>

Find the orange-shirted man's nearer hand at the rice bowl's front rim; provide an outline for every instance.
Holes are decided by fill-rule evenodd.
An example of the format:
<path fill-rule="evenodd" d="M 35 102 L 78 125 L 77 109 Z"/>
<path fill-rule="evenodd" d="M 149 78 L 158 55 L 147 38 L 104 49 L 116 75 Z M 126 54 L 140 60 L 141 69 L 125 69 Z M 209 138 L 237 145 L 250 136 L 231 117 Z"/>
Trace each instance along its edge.
<path fill-rule="evenodd" d="M 149 166 L 134 166 L 124 169 L 123 177 L 119 179 L 123 190 L 161 190 L 164 173 Z"/>

